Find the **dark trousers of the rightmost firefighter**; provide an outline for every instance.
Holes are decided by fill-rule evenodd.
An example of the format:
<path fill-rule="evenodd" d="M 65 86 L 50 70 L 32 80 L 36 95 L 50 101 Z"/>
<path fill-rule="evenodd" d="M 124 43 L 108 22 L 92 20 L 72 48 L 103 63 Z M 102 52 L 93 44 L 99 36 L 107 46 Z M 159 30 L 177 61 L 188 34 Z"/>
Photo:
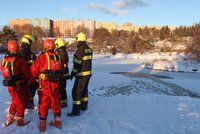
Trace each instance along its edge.
<path fill-rule="evenodd" d="M 74 102 L 82 101 L 88 98 L 88 84 L 90 77 L 76 78 L 72 89 L 72 98 Z"/>

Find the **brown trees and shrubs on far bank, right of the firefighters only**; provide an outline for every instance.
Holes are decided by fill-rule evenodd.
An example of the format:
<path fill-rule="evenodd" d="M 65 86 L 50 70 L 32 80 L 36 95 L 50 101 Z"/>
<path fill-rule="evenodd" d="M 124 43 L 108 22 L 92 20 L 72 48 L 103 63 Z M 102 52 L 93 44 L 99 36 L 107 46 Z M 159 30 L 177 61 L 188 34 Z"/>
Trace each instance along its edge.
<path fill-rule="evenodd" d="M 174 30 L 171 30 L 168 26 L 163 26 L 161 29 L 144 27 L 138 31 L 113 30 L 112 32 L 100 28 L 94 31 L 92 44 L 98 52 L 109 49 L 123 53 L 143 53 L 146 51 L 154 51 L 155 43 L 158 41 L 165 40 L 176 45 L 176 43 L 185 37 L 193 39 L 187 45 L 185 52 L 199 53 L 196 47 L 199 47 L 198 44 L 200 44 L 200 24 L 180 26 Z M 166 46 L 161 51 L 172 51 L 170 47 L 172 46 Z"/>

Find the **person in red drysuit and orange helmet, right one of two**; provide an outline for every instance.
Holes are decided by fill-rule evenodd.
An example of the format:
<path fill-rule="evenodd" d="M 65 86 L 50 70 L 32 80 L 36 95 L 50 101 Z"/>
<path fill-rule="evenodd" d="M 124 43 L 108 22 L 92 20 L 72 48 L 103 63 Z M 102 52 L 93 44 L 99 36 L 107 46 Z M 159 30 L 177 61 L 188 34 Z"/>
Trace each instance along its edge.
<path fill-rule="evenodd" d="M 61 103 L 59 82 L 62 78 L 62 63 L 59 55 L 54 52 L 55 43 L 46 39 L 42 52 L 31 66 L 31 73 L 39 78 L 39 126 L 41 132 L 46 131 L 48 109 L 52 109 L 54 121 L 51 125 L 61 128 Z"/>

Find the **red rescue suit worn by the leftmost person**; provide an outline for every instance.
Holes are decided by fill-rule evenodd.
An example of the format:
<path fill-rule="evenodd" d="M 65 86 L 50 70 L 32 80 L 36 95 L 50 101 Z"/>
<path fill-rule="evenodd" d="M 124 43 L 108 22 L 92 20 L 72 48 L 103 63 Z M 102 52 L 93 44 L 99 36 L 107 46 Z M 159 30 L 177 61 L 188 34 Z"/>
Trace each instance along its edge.
<path fill-rule="evenodd" d="M 4 76 L 3 84 L 6 81 L 5 86 L 8 86 L 8 92 L 11 96 L 9 114 L 23 117 L 30 98 L 27 82 L 32 84 L 34 81 L 30 69 L 23 58 L 6 56 L 1 62 L 1 70 Z"/>

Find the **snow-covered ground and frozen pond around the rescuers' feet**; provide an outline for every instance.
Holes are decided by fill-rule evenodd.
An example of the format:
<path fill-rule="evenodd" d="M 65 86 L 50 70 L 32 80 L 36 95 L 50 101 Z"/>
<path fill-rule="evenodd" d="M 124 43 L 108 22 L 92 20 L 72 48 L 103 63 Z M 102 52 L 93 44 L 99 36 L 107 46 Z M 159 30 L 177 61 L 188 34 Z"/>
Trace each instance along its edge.
<path fill-rule="evenodd" d="M 166 58 L 153 55 L 95 55 L 88 111 L 80 117 L 67 116 L 74 82 L 68 81 L 69 107 L 62 110 L 63 128 L 48 125 L 46 133 L 199 134 L 200 74 L 146 69 L 143 65 L 155 57 Z M 7 90 L 0 85 L 0 123 L 6 119 L 8 105 Z M 32 121 L 22 128 L 0 127 L 0 134 L 39 133 L 37 110 L 28 111 L 25 119 Z M 48 122 L 52 119 L 50 112 Z"/>

